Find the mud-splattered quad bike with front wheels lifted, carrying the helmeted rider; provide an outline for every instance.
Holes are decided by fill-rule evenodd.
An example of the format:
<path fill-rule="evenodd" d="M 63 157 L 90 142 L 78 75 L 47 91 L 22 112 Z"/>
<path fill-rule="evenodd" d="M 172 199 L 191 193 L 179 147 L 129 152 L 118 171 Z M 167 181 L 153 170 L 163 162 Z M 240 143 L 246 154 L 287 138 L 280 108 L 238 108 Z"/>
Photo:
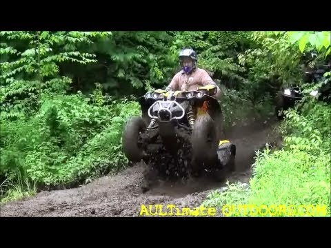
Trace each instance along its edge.
<path fill-rule="evenodd" d="M 123 130 L 122 147 L 128 160 L 143 160 L 161 178 L 205 172 L 217 178 L 228 164 L 234 169 L 235 146 L 220 143 L 223 118 L 212 97 L 216 90 L 208 85 L 195 91 L 156 90 L 142 96 L 141 116 L 131 117 Z"/>

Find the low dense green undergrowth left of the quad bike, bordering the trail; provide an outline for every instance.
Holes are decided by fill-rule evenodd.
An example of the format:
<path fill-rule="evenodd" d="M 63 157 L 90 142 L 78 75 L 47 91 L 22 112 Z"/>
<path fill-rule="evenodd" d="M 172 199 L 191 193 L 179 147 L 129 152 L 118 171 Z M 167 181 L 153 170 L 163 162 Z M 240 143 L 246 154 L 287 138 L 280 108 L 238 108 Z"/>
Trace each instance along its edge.
<path fill-rule="evenodd" d="M 1 122 L 5 200 L 14 197 L 13 191 L 73 187 L 123 169 L 121 131 L 128 116 L 139 114 L 138 103 L 109 99 L 99 91 L 89 97 L 45 94 L 34 116 Z"/>

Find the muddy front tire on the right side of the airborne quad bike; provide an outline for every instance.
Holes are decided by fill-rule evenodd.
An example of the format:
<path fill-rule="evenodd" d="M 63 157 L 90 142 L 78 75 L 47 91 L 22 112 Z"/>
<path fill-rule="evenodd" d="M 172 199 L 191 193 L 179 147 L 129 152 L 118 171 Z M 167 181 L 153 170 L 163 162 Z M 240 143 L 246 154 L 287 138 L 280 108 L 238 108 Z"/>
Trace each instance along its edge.
<path fill-rule="evenodd" d="M 219 135 L 217 123 L 208 114 L 197 118 L 192 132 L 192 169 L 195 172 L 203 169 L 201 165 L 208 166 L 217 160 Z"/>

